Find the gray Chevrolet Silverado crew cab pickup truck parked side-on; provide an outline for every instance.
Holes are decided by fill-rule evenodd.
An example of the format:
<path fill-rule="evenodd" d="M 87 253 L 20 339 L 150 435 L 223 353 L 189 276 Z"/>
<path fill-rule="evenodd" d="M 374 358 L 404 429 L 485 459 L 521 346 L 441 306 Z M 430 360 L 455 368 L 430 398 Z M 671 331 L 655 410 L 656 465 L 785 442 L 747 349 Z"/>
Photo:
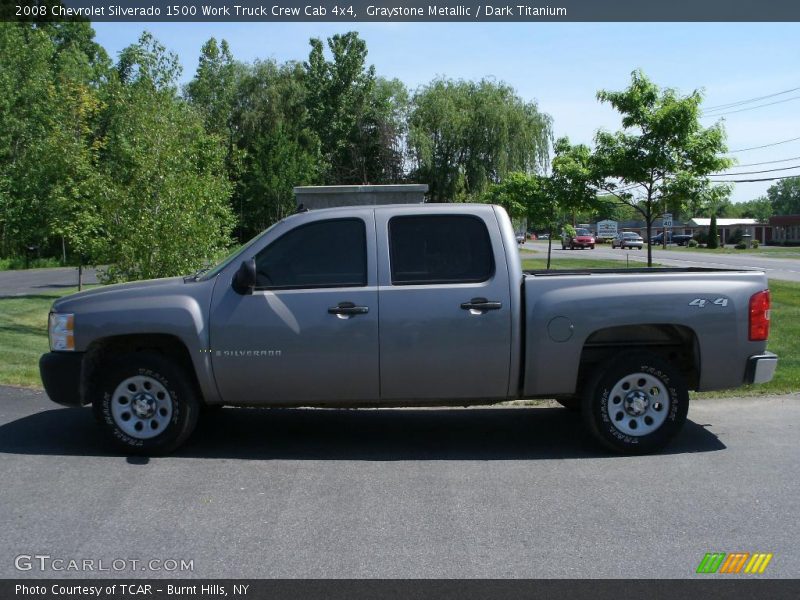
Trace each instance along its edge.
<path fill-rule="evenodd" d="M 664 446 L 689 390 L 769 381 L 764 273 L 523 272 L 508 215 L 470 204 L 300 212 L 213 269 L 57 300 L 40 371 L 128 452 L 215 406 L 555 398 L 618 452 Z"/>

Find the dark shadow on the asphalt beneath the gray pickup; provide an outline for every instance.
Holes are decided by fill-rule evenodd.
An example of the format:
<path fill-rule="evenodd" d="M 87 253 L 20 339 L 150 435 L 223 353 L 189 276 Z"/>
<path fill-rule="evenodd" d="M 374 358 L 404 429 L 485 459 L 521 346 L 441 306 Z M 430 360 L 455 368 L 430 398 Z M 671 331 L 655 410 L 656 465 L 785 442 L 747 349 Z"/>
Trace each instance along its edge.
<path fill-rule="evenodd" d="M 687 421 L 661 454 L 722 450 Z M 46 410 L 0 426 L 0 453 L 122 456 L 89 409 Z M 580 416 L 561 408 L 314 410 L 225 408 L 205 415 L 174 456 L 292 460 L 526 460 L 603 458 Z M 130 458 L 145 464 L 146 458 Z"/>

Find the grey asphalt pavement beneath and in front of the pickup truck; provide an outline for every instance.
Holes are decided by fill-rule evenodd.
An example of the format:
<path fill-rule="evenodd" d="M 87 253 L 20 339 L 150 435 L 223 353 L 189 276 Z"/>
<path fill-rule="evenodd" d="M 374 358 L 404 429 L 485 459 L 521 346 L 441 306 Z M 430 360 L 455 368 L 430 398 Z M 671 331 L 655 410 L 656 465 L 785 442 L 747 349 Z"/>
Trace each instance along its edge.
<path fill-rule="evenodd" d="M 685 578 L 706 552 L 800 576 L 800 395 L 689 419 L 663 454 L 619 457 L 554 407 L 223 409 L 146 459 L 88 410 L 0 387 L 0 577 Z M 15 568 L 36 553 L 192 570 Z"/>

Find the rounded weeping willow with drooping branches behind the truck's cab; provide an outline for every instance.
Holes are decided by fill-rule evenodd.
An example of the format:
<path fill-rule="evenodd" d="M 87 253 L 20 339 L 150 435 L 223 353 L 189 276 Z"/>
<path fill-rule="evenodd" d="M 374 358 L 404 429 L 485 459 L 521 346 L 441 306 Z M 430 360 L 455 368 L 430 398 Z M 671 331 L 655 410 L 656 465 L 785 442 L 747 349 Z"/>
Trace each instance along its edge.
<path fill-rule="evenodd" d="M 479 197 L 514 171 L 543 172 L 550 139 L 550 117 L 504 83 L 436 79 L 414 94 L 412 175 L 435 202 Z"/>

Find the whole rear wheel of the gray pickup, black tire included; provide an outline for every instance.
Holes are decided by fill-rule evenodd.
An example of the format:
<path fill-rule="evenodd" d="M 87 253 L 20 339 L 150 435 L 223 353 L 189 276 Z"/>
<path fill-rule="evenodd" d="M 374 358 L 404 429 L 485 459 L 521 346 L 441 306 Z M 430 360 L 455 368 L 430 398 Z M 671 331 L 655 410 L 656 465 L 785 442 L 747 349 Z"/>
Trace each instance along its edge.
<path fill-rule="evenodd" d="M 584 387 L 587 429 L 621 454 L 660 450 L 681 430 L 688 410 L 689 391 L 681 373 L 648 352 L 628 352 L 607 361 Z"/>

